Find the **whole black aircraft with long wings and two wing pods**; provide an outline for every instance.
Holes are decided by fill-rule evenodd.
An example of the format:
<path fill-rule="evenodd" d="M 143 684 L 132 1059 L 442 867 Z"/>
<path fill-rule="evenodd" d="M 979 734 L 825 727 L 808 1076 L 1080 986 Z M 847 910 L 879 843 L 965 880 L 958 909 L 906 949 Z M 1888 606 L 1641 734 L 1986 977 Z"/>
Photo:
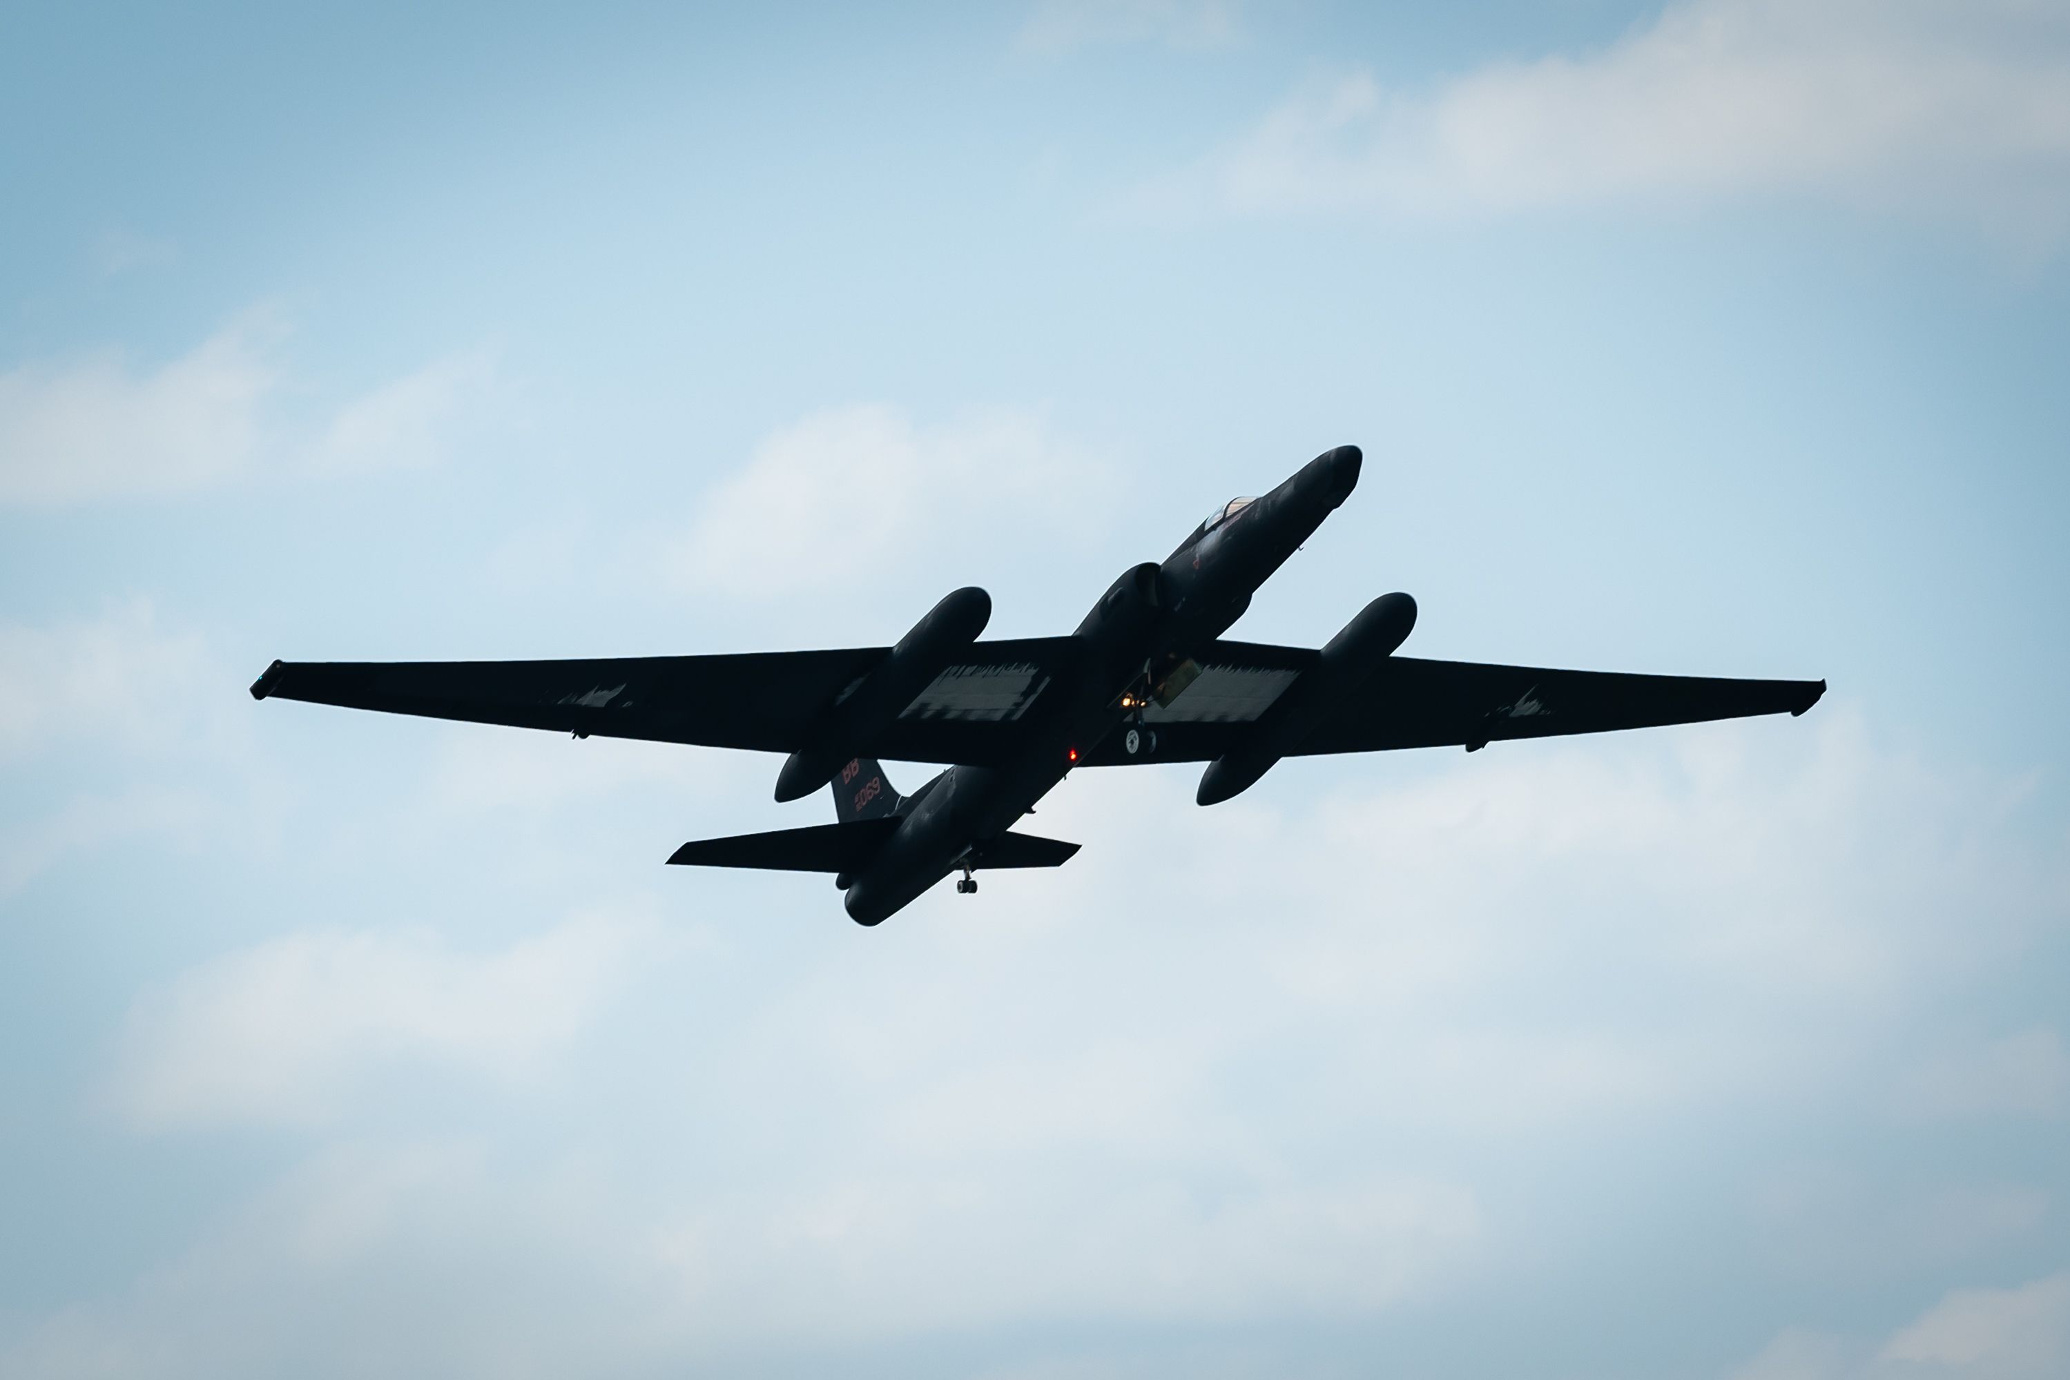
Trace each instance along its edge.
<path fill-rule="evenodd" d="M 1395 656 L 1416 600 L 1383 594 L 1319 652 L 1225 641 L 1250 596 L 1352 494 L 1360 453 L 1317 455 L 1232 499 L 1161 565 L 1099 596 L 1070 637 L 977 641 L 992 596 L 956 590 L 894 648 L 573 662 L 273 662 L 253 697 L 789 753 L 776 799 L 828 782 L 836 823 L 675 850 L 671 863 L 834 873 L 876 925 L 948 873 L 1058 867 L 1078 844 L 1012 830 L 1072 768 L 1207 761 L 1196 799 L 1281 757 L 1803 714 L 1824 681 L 1534 670 Z M 898 794 L 878 757 L 948 770 Z"/>

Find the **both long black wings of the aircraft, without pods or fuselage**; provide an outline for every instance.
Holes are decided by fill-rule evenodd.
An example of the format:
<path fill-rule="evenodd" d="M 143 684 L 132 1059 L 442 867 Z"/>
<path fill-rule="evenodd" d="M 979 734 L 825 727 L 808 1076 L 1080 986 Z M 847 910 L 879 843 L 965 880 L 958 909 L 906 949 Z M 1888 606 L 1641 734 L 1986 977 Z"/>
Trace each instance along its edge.
<path fill-rule="evenodd" d="M 696 743 L 787 753 L 888 654 L 888 648 L 631 656 L 557 662 L 273 662 L 253 697 L 418 714 L 555 732 Z M 896 761 L 992 766 L 1021 743 L 1021 720 L 1070 677 L 1070 637 L 979 641 L 927 685 L 874 743 Z M 1219 757 L 1317 652 L 1217 641 L 1201 677 L 1147 714 L 1151 761 Z M 1803 714 L 1824 681 L 1720 681 L 1602 670 L 1544 670 L 1389 658 L 1352 703 L 1296 747 L 1368 753 L 1569 732 L 1608 732 L 1747 714 Z M 1138 761 L 1122 734 L 1087 749 L 1083 766 Z"/>

